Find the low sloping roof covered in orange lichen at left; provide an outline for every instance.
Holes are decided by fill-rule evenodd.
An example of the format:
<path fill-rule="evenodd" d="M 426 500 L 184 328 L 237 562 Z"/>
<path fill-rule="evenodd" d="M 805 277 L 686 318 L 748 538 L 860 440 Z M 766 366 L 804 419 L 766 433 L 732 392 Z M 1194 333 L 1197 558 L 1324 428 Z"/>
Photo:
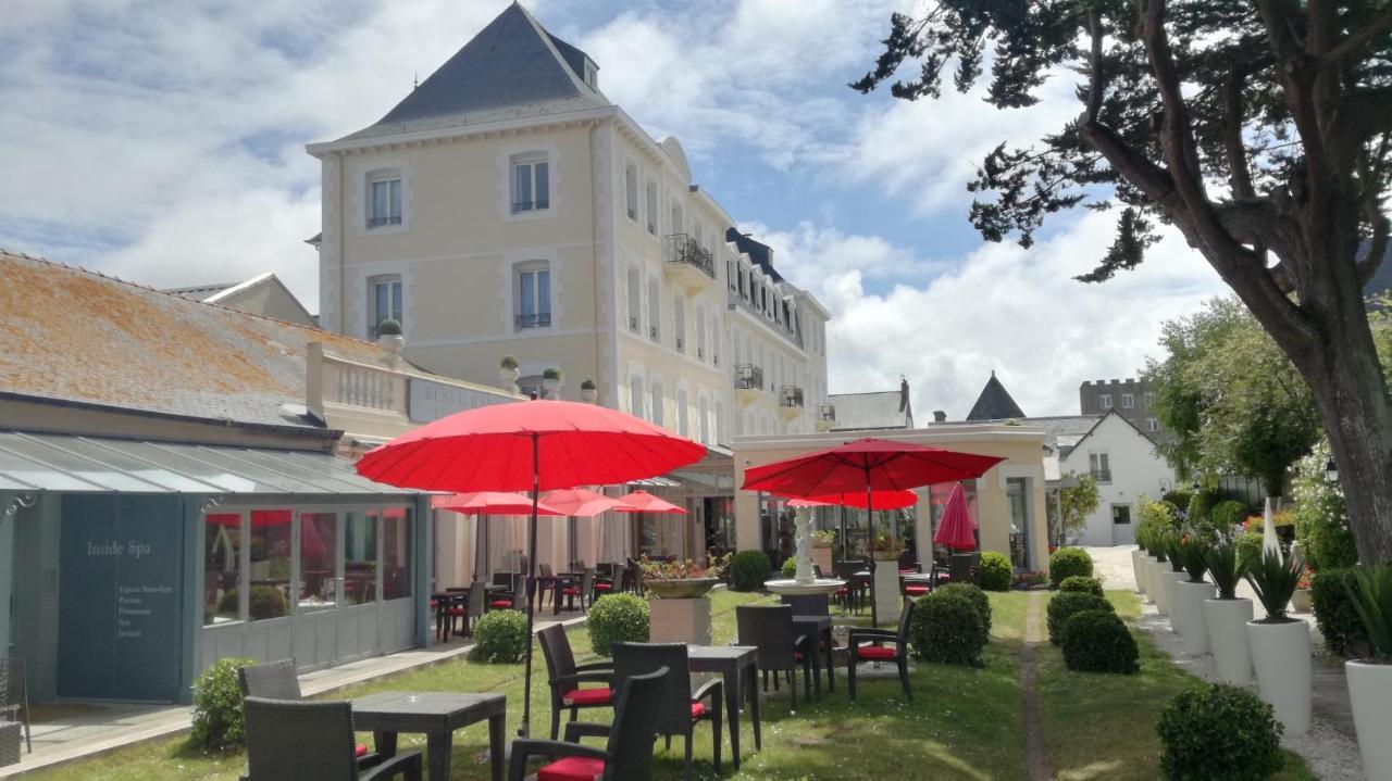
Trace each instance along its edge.
<path fill-rule="evenodd" d="M 0 250 L 0 390 L 182 416 L 312 425 L 305 347 L 376 345 Z"/>

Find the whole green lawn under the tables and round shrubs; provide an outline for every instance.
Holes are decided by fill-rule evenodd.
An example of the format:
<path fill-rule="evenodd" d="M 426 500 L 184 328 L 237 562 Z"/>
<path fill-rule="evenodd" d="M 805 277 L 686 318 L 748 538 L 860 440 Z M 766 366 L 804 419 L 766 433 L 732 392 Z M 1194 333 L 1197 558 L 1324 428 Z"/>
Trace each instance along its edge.
<path fill-rule="evenodd" d="M 1132 618 L 1139 600 L 1123 592 L 1108 598 L 1122 616 Z M 717 592 L 715 642 L 734 638 L 736 605 L 773 600 L 759 595 Z M 835 695 L 820 703 L 799 703 L 788 713 L 786 691 L 771 693 L 763 706 L 763 750 L 753 753 L 753 731 L 742 718 L 743 767 L 732 774 L 729 743 L 724 741 L 727 778 L 1025 778 L 1022 691 L 1018 653 L 1025 638 L 1029 595 L 991 593 L 992 642 L 980 670 L 916 663 L 913 702 L 905 702 L 896 680 L 863 681 L 859 703 L 851 705 L 845 678 L 838 674 Z M 853 618 L 852 618 L 853 620 Z M 838 623 L 841 620 L 838 618 Z M 1043 617 L 1041 617 L 1043 628 Z M 1164 703 L 1196 681 L 1157 652 L 1144 636 L 1141 673 L 1137 675 L 1090 675 L 1063 668 L 1057 649 L 1044 642 L 1036 653 L 1043 698 L 1043 735 L 1050 760 L 1059 778 L 1157 778 L 1160 753 L 1155 718 Z M 583 627 L 571 631 L 571 643 L 580 661 L 593 659 Z M 533 687 L 533 732 L 550 724 L 544 664 L 541 681 Z M 451 661 L 413 673 L 354 687 L 335 698 L 358 696 L 380 689 L 496 691 L 508 696 L 509 730 L 521 721 L 522 666 Z M 604 720 L 604 712 L 590 718 Z M 696 775 L 714 778 L 710 763 L 709 727 L 697 728 Z M 511 735 L 511 732 L 509 732 Z M 366 737 L 365 737 L 366 739 Z M 402 743 L 420 741 L 402 735 Z M 455 734 L 454 778 L 487 778 L 484 762 L 487 728 L 470 727 Z M 1290 755 L 1283 781 L 1313 775 Z M 207 757 L 185 748 L 184 738 L 145 743 L 99 759 L 68 764 L 36 780 L 88 778 L 93 781 L 217 780 L 231 781 L 244 768 L 241 755 Z M 679 778 L 682 745 L 672 750 L 657 743 L 657 778 Z"/>

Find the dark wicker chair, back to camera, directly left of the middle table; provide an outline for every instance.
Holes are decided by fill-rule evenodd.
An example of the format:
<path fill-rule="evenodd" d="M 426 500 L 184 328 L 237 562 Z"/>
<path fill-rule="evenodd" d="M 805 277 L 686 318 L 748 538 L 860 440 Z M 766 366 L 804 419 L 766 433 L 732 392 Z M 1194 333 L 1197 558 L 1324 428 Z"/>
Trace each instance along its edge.
<path fill-rule="evenodd" d="M 686 739 L 685 778 L 690 778 L 692 738 L 696 734 L 696 724 L 710 721 L 714 741 L 711 755 L 715 759 L 715 775 L 720 775 L 720 709 L 724 705 L 724 682 L 714 678 L 692 692 L 686 643 L 617 642 L 612 648 L 615 680 L 624 681 L 654 670 L 670 671 L 660 689 L 651 695 L 657 700 L 654 717 L 657 734 L 667 739 L 668 749 L 672 748 L 672 735 Z"/>

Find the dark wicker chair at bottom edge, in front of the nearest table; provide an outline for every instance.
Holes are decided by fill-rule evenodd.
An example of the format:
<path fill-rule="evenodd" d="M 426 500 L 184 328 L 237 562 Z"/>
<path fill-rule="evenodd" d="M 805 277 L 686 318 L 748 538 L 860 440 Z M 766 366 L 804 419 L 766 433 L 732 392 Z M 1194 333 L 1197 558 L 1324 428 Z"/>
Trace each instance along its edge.
<path fill-rule="evenodd" d="M 402 752 L 359 771 L 352 757 L 352 705 L 242 700 L 246 714 L 248 781 L 420 781 L 420 752 Z"/>

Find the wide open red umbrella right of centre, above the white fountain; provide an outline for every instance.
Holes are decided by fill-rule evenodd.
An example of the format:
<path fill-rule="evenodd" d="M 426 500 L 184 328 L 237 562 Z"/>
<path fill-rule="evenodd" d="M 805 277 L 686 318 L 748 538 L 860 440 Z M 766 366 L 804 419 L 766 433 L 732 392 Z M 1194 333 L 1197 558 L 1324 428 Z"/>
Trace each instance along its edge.
<path fill-rule="evenodd" d="M 863 491 L 869 513 L 876 509 L 876 491 L 906 491 L 934 482 L 972 479 L 1004 460 L 999 456 L 866 438 L 748 470 L 742 488 L 806 498 Z M 873 603 L 870 621 L 878 624 Z"/>

